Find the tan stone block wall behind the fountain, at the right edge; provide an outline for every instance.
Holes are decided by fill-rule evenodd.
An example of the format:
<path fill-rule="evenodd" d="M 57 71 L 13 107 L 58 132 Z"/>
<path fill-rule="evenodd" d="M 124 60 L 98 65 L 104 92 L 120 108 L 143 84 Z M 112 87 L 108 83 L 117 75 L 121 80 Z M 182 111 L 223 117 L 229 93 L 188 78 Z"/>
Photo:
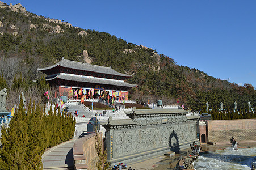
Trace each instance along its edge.
<path fill-rule="evenodd" d="M 256 141 L 256 119 L 207 121 L 209 142 Z"/>

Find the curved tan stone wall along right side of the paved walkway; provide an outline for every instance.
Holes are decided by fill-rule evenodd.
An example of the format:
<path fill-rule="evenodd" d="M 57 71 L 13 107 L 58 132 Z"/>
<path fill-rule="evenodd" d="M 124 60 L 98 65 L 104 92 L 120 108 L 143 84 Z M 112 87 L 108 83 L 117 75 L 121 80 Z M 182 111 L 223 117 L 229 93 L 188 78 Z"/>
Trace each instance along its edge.
<path fill-rule="evenodd" d="M 96 160 L 98 155 L 95 150 L 95 136 L 95 133 L 89 134 L 75 142 L 73 147 L 74 169 L 97 169 Z M 99 137 L 102 140 L 102 133 L 99 133 Z"/>

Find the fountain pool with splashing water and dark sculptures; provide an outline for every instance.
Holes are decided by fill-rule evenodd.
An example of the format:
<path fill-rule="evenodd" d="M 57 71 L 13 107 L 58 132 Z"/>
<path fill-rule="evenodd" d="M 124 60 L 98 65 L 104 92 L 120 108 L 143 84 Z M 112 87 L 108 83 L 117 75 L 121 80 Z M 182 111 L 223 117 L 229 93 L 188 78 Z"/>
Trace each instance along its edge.
<path fill-rule="evenodd" d="M 191 151 L 188 151 L 186 155 L 177 163 L 177 169 L 251 169 L 255 170 L 256 165 L 256 148 L 237 148 L 238 142 L 234 137 L 230 138 L 230 145 L 221 145 L 216 150 L 216 146 L 209 145 L 207 148 L 213 148 L 213 150 L 202 150 L 200 145 L 196 145 L 196 142 L 190 144 Z M 254 144 L 255 145 L 255 144 Z M 214 149 L 215 148 L 215 149 Z"/>

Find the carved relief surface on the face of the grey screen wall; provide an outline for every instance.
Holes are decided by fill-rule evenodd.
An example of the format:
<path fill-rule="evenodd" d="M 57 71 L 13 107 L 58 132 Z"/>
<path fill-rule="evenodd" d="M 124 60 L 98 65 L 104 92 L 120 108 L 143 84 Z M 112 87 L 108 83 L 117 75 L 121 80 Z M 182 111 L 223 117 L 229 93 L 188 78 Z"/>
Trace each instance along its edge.
<path fill-rule="evenodd" d="M 177 133 L 179 142 L 195 139 L 194 123 L 114 131 L 114 157 L 169 146 L 169 138 L 173 131 Z"/>

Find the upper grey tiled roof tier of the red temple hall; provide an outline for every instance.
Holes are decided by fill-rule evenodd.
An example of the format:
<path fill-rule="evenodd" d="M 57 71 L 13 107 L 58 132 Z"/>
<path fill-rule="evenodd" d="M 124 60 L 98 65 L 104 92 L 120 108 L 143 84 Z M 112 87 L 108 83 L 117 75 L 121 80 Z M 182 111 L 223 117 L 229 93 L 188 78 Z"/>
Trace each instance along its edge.
<path fill-rule="evenodd" d="M 111 74 L 111 75 L 118 75 L 118 76 L 125 76 L 125 77 L 132 76 L 132 75 L 128 75 L 128 74 L 119 73 L 119 72 L 115 71 L 114 69 L 111 69 L 111 67 L 91 65 L 89 63 L 70 61 L 68 59 L 62 59 L 62 61 L 60 61 L 52 66 L 37 69 L 37 71 L 45 71 L 45 70 L 52 69 L 57 66 L 62 66 L 62 67 L 70 68 L 70 69 L 83 70 L 83 71 L 92 71 L 95 73 Z"/>

